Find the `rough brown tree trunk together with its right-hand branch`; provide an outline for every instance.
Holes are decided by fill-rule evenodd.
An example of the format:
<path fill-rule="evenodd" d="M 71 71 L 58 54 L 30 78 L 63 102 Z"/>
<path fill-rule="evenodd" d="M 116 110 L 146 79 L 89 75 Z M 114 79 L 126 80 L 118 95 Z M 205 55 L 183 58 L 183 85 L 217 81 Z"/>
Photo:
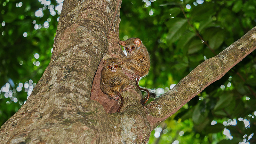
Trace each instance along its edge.
<path fill-rule="evenodd" d="M 51 62 L 1 127 L 1 143 L 147 143 L 157 125 L 256 48 L 254 27 L 146 107 L 138 89 L 122 93 L 124 106 L 113 113 L 118 102 L 101 92 L 99 79 L 102 59 L 124 57 L 117 44 L 121 2 L 64 1 Z"/>

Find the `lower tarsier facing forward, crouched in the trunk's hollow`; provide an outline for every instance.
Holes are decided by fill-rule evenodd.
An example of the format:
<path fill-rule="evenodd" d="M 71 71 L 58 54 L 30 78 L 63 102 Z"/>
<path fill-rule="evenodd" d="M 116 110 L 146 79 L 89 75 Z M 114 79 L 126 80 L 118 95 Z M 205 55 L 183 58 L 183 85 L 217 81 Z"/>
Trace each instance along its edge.
<path fill-rule="evenodd" d="M 110 99 L 118 101 L 121 99 L 121 105 L 117 112 L 119 112 L 124 104 L 124 99 L 120 92 L 126 91 L 133 87 L 129 85 L 129 78 L 122 70 L 122 61 L 119 58 L 108 58 L 103 62 L 104 67 L 101 71 L 100 89 L 107 94 Z"/>

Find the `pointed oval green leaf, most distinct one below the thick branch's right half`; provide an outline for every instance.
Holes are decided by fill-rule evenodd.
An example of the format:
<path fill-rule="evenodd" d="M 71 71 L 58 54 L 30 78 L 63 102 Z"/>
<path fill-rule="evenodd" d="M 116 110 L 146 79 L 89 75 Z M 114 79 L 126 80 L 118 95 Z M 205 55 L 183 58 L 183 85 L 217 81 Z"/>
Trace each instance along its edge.
<path fill-rule="evenodd" d="M 216 103 L 215 107 L 213 110 L 221 110 L 222 108 L 227 107 L 230 102 L 233 99 L 233 93 L 226 94 L 226 95 L 220 95 L 219 101 Z"/>

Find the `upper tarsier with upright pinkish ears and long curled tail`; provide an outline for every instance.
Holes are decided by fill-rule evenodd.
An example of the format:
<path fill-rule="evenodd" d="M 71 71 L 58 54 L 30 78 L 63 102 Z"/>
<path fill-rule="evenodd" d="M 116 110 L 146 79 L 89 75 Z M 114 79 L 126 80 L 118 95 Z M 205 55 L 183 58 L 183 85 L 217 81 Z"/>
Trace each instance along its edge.
<path fill-rule="evenodd" d="M 130 80 L 136 80 L 136 85 L 140 90 L 148 93 L 145 104 L 149 98 L 149 92 L 147 89 L 141 88 L 138 84 L 140 77 L 144 77 L 148 74 L 150 68 L 150 57 L 147 48 L 142 44 L 141 40 L 137 38 L 129 38 L 125 42 L 118 41 L 119 45 L 124 46 L 127 52 L 127 57 L 123 60 L 123 71 L 129 77 Z"/>

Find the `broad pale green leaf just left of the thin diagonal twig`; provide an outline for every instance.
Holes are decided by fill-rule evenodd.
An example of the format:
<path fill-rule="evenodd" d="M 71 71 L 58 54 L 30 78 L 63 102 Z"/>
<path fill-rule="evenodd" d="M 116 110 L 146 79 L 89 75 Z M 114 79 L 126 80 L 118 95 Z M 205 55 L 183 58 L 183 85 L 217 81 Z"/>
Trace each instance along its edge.
<path fill-rule="evenodd" d="M 170 28 L 166 39 L 169 40 L 169 42 L 175 42 L 186 30 L 187 20 L 181 18 L 173 18 L 166 23 L 166 26 Z"/>

